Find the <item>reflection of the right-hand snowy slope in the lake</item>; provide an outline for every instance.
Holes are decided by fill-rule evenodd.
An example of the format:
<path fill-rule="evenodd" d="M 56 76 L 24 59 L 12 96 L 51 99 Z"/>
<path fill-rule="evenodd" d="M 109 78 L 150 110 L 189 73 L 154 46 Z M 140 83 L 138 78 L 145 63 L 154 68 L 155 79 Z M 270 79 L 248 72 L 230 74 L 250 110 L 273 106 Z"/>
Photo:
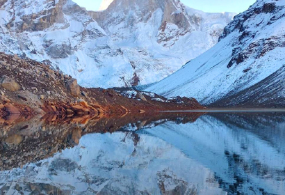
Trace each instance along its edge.
<path fill-rule="evenodd" d="M 275 140 L 275 146 L 257 134 L 229 126 L 210 116 L 202 116 L 195 123 L 177 125 L 168 122 L 143 132 L 171 143 L 188 157 L 209 167 L 225 182 L 228 190 L 239 179 L 243 181 L 236 189 L 239 192 L 250 194 L 254 189 L 261 194 L 259 188 L 262 188 L 268 193 L 282 194 L 285 154 L 279 148 L 284 146 L 285 133 L 284 123 L 279 124 L 281 126 L 275 133 L 281 131 L 279 135 L 282 137 L 278 142 L 275 134 L 270 132 L 271 126 L 263 131 L 263 136 L 267 132 L 267 136 Z"/>

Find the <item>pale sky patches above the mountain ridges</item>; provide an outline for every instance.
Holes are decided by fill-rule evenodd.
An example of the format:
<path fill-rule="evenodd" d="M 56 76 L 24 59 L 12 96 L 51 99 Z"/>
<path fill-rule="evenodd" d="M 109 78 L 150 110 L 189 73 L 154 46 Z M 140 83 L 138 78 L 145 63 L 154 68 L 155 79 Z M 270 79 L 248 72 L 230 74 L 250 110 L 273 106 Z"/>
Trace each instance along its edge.
<path fill-rule="evenodd" d="M 72 0 L 87 10 L 99 10 L 102 0 Z M 186 6 L 210 13 L 241 13 L 256 0 L 181 0 Z"/>

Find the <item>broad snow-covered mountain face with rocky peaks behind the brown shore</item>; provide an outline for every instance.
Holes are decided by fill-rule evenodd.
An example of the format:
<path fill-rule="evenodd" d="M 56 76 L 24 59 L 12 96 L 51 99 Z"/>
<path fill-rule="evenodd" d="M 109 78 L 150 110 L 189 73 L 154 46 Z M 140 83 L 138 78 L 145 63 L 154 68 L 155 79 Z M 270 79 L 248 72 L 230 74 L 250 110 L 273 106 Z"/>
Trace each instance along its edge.
<path fill-rule="evenodd" d="M 115 0 L 97 13 L 71 0 L 3 0 L 0 51 L 51 63 L 83 86 L 149 84 L 215 45 L 233 16 L 178 0 Z"/>

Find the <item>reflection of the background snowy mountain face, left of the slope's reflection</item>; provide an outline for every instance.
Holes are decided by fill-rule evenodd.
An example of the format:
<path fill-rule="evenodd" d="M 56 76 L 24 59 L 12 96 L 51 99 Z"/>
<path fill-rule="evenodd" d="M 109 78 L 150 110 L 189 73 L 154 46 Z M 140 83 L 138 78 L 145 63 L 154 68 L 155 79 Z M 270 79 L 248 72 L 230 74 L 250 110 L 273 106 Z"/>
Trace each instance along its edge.
<path fill-rule="evenodd" d="M 225 194 L 213 172 L 165 141 L 140 135 L 136 145 L 133 139 L 131 133 L 86 135 L 75 148 L 23 170 L 2 172 L 1 186 L 16 192 L 17 182 L 26 193 L 31 182 L 71 194 L 171 194 L 175 190 Z"/>

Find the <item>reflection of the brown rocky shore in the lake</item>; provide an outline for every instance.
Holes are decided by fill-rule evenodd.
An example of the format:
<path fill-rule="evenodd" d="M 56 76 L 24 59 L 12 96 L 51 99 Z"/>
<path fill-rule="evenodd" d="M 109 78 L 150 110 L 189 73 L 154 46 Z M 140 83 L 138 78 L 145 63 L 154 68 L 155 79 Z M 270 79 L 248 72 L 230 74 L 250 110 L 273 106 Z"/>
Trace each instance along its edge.
<path fill-rule="evenodd" d="M 189 114 L 186 121 L 195 121 L 200 114 Z M 40 119 L 3 125 L 0 128 L 0 161 L 2 169 L 13 169 L 29 162 L 36 162 L 54 155 L 65 148 L 72 148 L 79 143 L 84 134 L 92 132 L 115 132 L 125 127 L 128 123 L 143 127 L 152 124 L 152 121 L 161 118 L 176 120 L 177 114 L 157 114 L 148 116 L 127 115 L 121 116 L 64 116 L 47 115 Z M 91 117 L 91 118 L 90 118 Z M 140 120 L 144 121 L 143 124 Z M 122 130 L 122 129 L 121 129 Z M 133 135 L 133 143 L 138 143 L 139 137 Z M 35 150 L 35 148 L 37 148 Z M 17 155 L 15 155 L 17 154 Z M 7 160 L 9 159 L 9 160 Z"/>

